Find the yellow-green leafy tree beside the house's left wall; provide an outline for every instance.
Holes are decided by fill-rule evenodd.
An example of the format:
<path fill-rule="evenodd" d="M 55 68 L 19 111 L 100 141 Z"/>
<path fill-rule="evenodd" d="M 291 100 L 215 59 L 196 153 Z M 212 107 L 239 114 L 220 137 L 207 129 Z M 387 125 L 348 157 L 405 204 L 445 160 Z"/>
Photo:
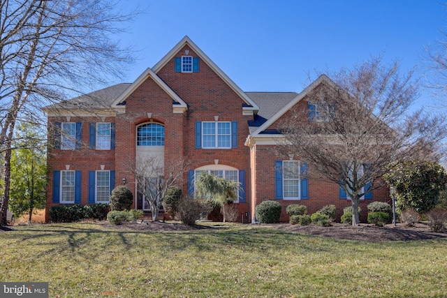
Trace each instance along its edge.
<path fill-rule="evenodd" d="M 45 142 L 31 124 L 20 124 L 15 143 L 21 149 L 11 155 L 9 209 L 16 217 L 28 214 L 31 222 L 33 211 L 44 208 L 47 197 Z"/>

